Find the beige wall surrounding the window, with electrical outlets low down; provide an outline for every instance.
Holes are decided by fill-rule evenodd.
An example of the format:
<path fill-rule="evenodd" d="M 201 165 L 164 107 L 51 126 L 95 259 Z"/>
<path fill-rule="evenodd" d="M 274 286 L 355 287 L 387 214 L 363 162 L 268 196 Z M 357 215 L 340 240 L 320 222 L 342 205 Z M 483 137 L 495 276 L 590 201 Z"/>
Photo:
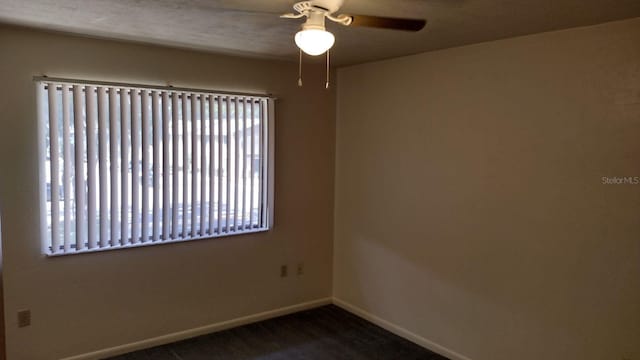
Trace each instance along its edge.
<path fill-rule="evenodd" d="M 334 92 L 322 65 L 214 56 L 0 27 L 0 203 L 11 360 L 58 359 L 331 294 Z M 295 60 L 295 59 L 294 59 Z M 34 75 L 270 92 L 275 228 L 224 239 L 45 258 Z M 310 101 L 309 99 L 313 99 Z M 304 276 L 279 277 L 305 263 Z M 16 311 L 32 325 L 17 328 Z"/>

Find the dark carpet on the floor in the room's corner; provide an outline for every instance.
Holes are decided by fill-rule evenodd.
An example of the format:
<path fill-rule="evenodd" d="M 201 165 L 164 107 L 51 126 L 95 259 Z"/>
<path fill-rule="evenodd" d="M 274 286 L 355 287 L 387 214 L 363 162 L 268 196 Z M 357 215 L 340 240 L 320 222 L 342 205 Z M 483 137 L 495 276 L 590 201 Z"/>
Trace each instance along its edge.
<path fill-rule="evenodd" d="M 334 305 L 111 360 L 447 360 Z"/>

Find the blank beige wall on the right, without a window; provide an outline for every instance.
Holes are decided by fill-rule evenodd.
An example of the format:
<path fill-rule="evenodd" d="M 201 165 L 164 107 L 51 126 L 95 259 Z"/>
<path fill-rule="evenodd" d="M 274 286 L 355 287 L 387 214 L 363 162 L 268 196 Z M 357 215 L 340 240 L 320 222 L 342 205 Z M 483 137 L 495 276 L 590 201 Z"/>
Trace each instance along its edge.
<path fill-rule="evenodd" d="M 340 69 L 334 295 L 474 360 L 640 359 L 640 19 Z"/>

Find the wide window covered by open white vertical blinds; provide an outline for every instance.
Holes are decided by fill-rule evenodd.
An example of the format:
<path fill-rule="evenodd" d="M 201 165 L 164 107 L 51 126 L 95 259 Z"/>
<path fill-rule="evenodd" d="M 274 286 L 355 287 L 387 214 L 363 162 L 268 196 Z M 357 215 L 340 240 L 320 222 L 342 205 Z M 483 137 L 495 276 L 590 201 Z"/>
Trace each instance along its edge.
<path fill-rule="evenodd" d="M 45 254 L 270 228 L 272 99 L 46 78 L 37 91 Z"/>

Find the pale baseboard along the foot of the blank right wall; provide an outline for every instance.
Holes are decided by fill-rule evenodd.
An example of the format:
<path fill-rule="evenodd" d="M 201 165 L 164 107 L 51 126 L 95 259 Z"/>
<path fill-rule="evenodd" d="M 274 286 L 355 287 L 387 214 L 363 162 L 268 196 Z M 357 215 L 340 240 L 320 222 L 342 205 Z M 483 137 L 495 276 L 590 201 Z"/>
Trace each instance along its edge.
<path fill-rule="evenodd" d="M 471 360 L 470 358 L 461 355 L 451 349 L 448 349 L 442 345 L 439 345 L 429 339 L 426 339 L 418 334 L 415 334 L 399 325 L 396 325 L 390 321 L 387 321 L 381 317 L 378 317 L 376 315 L 371 314 L 370 312 L 361 309 L 355 305 L 352 305 L 344 300 L 340 300 L 336 297 L 333 298 L 333 303 L 336 306 L 339 306 L 341 308 L 343 308 L 344 310 L 353 313 L 354 315 L 357 315 L 365 320 L 368 320 L 378 326 L 380 326 L 381 328 L 390 331 L 400 337 L 403 337 L 411 342 L 414 342 L 424 348 L 427 348 L 435 353 L 438 353 L 442 356 L 446 356 L 451 360 Z"/>

